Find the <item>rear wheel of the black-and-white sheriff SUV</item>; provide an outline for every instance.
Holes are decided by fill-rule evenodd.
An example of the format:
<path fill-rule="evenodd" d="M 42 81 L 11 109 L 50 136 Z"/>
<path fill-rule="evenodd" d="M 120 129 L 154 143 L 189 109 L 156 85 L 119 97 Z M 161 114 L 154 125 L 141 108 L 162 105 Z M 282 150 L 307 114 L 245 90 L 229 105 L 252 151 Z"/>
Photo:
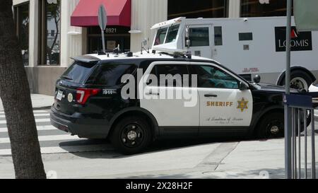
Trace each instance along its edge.
<path fill-rule="evenodd" d="M 151 142 L 151 129 L 142 117 L 125 117 L 112 131 L 112 145 L 125 155 L 140 153 Z"/>

